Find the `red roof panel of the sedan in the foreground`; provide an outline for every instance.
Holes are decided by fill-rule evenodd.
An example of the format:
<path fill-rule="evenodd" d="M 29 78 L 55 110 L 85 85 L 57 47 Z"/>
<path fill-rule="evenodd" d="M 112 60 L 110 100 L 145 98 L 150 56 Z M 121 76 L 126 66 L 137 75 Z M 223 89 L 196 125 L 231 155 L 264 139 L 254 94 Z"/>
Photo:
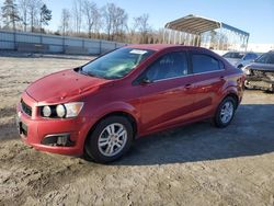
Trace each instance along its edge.
<path fill-rule="evenodd" d="M 203 47 L 195 47 L 195 46 L 183 46 L 183 45 L 171 45 L 171 44 L 133 44 L 126 46 L 128 48 L 138 48 L 138 49 L 149 49 L 149 50 L 162 50 L 167 48 L 193 48 L 193 49 L 204 49 L 207 50 L 206 48 Z"/>

